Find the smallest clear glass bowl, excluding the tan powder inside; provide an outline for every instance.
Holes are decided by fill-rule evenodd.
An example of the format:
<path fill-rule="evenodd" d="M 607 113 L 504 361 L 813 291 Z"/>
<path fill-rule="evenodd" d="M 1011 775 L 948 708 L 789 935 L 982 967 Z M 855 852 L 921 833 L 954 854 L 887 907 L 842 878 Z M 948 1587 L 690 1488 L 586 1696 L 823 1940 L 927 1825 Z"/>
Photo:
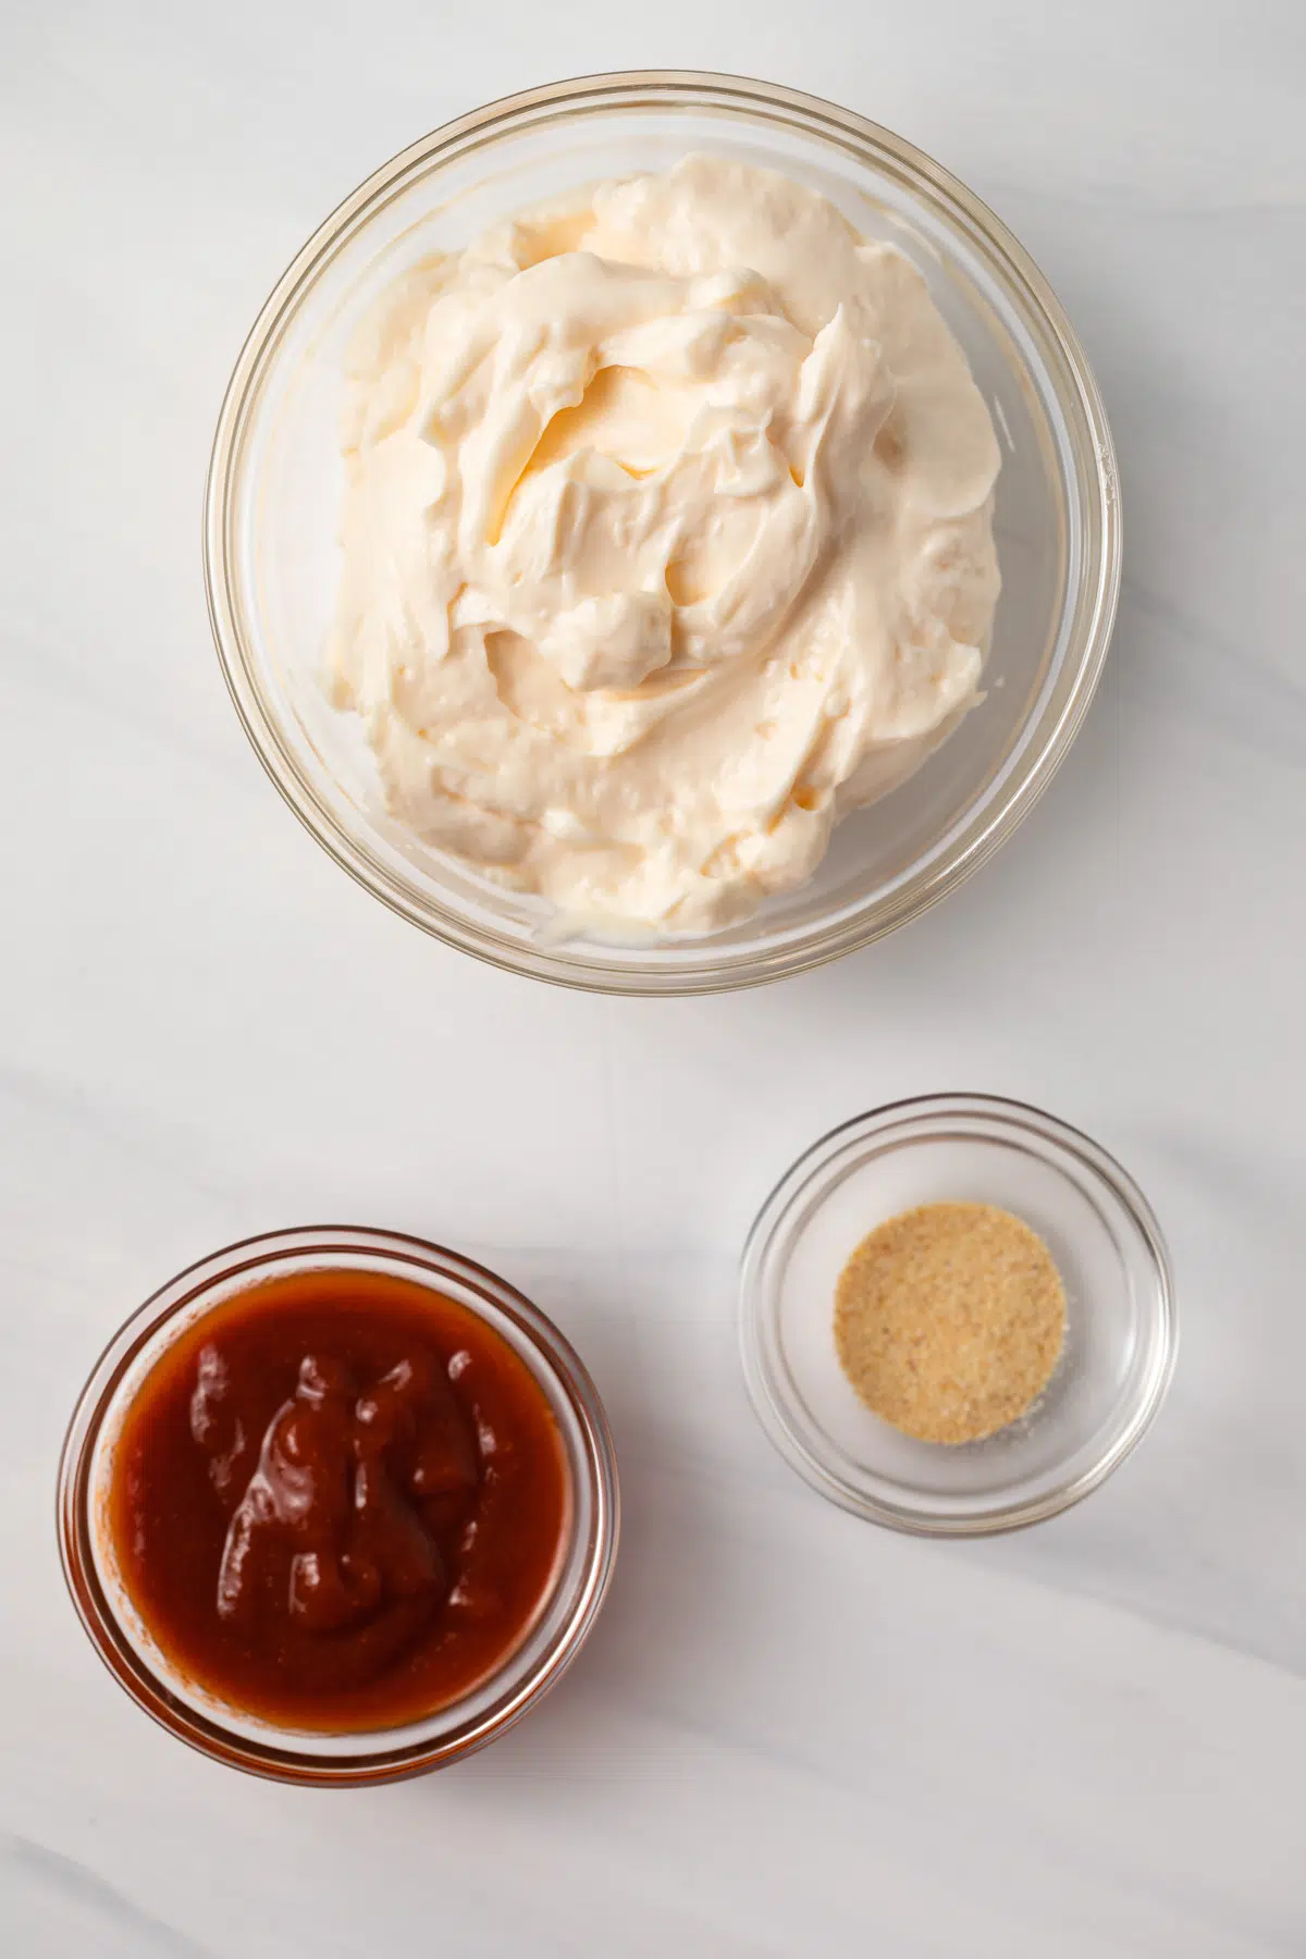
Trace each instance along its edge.
<path fill-rule="evenodd" d="M 983 1442 L 916 1442 L 871 1414 L 834 1350 L 856 1246 L 914 1205 L 999 1205 L 1065 1281 L 1065 1346 L 1034 1407 Z M 1177 1322 L 1157 1220 L 1120 1164 L 1055 1117 L 993 1095 L 928 1095 L 858 1117 L 764 1203 L 740 1271 L 744 1377 L 801 1477 L 858 1516 L 961 1538 L 1036 1524 L 1124 1461 L 1161 1407 Z"/>

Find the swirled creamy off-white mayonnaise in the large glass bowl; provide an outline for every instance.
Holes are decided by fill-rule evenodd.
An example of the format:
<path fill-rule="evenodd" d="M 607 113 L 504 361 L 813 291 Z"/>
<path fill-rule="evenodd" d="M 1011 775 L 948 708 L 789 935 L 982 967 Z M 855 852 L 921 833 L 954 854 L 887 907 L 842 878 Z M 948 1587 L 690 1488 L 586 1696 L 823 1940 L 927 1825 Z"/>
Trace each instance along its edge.
<path fill-rule="evenodd" d="M 977 699 L 999 449 L 920 272 L 711 155 L 399 280 L 335 643 L 392 813 L 578 929 L 709 932 Z"/>

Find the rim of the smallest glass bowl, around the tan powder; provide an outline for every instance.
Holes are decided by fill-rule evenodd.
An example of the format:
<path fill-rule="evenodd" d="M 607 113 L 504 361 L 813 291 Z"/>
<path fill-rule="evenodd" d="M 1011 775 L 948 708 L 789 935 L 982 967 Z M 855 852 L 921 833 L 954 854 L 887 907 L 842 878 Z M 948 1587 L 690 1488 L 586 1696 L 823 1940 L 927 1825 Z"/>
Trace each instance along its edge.
<path fill-rule="evenodd" d="M 877 1497 L 867 1497 L 863 1491 L 852 1487 L 846 1479 L 826 1467 L 826 1463 L 815 1456 L 789 1426 L 783 1397 L 777 1397 L 771 1381 L 771 1369 L 764 1360 L 760 1332 L 766 1301 L 766 1293 L 760 1283 L 760 1260 L 764 1250 L 783 1232 L 785 1220 L 801 1203 L 813 1183 L 813 1177 L 824 1170 L 828 1162 L 832 1162 L 846 1142 L 856 1140 L 860 1134 L 867 1138 L 885 1136 L 895 1128 L 910 1128 L 912 1124 L 928 1123 L 934 1117 L 979 1119 L 993 1124 L 999 1132 L 1018 1130 L 1026 1148 L 1030 1146 L 1030 1136 L 1034 1136 L 1044 1144 L 1053 1142 L 1061 1150 L 1075 1156 L 1077 1162 L 1085 1166 L 1122 1205 L 1140 1234 L 1153 1279 L 1153 1285 L 1149 1287 L 1151 1307 L 1147 1318 L 1153 1326 L 1153 1336 L 1159 1342 L 1153 1365 L 1134 1395 L 1136 1405 L 1130 1410 L 1128 1422 L 1093 1463 L 1077 1475 L 1055 1483 L 1042 1497 L 1030 1497 L 1016 1503 L 1008 1503 L 999 1497 L 983 1510 L 975 1510 L 965 1516 L 956 1516 L 944 1510 L 932 1512 L 928 1506 L 903 1508 Z M 910 1144 L 910 1140 L 922 1138 L 905 1136 L 905 1142 Z M 1059 1168 L 1042 1150 L 1036 1150 L 1034 1154 L 1038 1154 L 1048 1168 Z M 811 1485 L 811 1489 L 818 1491 L 818 1495 L 836 1503 L 840 1508 L 850 1510 L 854 1516 L 862 1516 L 873 1524 L 885 1524 L 889 1530 L 899 1530 L 907 1536 L 999 1536 L 1010 1530 L 1026 1530 L 1030 1524 L 1040 1524 L 1049 1516 L 1057 1516 L 1061 1510 L 1069 1510 L 1071 1505 L 1081 1503 L 1095 1489 L 1098 1489 L 1106 1477 L 1112 1475 L 1112 1471 L 1118 1469 L 1120 1463 L 1138 1448 L 1155 1420 L 1175 1375 L 1175 1362 L 1179 1356 L 1175 1275 L 1169 1248 L 1151 1205 L 1124 1166 L 1085 1130 L 1075 1128 L 1071 1123 L 1063 1123 L 1061 1117 L 1053 1117 L 1049 1111 L 1040 1109 L 1034 1103 L 1018 1101 L 1008 1095 L 983 1095 L 969 1091 L 910 1095 L 901 1101 L 881 1103 L 875 1109 L 850 1117 L 846 1123 L 838 1123 L 834 1128 L 818 1136 L 807 1150 L 803 1150 L 771 1187 L 748 1230 L 744 1252 L 740 1256 L 738 1342 L 744 1385 L 764 1434 L 789 1467 L 795 1469 L 803 1481 Z M 1122 1395 L 1118 1407 L 1128 1407 L 1128 1399 L 1130 1397 Z"/>

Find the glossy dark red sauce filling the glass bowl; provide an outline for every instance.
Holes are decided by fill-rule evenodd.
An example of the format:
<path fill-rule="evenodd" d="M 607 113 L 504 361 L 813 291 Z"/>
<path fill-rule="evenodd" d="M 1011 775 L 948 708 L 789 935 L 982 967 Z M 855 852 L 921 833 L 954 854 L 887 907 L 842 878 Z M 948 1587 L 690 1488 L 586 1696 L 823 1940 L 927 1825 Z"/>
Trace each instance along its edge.
<path fill-rule="evenodd" d="M 166 1657 L 264 1720 L 397 1726 L 493 1673 L 568 1520 L 552 1410 L 466 1307 L 358 1271 L 270 1279 L 145 1377 L 110 1471 Z"/>

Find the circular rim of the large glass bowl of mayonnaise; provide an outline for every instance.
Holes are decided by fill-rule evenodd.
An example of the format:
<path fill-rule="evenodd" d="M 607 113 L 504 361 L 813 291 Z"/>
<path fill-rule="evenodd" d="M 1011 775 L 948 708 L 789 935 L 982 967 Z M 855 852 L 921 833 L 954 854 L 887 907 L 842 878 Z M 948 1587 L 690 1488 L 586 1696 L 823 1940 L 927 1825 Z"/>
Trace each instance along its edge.
<path fill-rule="evenodd" d="M 1071 686 L 1051 725 L 1032 741 L 1030 752 L 1012 770 L 993 807 L 954 838 L 938 860 L 926 860 L 909 872 L 889 903 L 862 903 L 838 927 L 816 923 L 793 944 L 746 952 L 726 966 L 713 962 L 711 936 L 701 940 L 703 958 L 697 964 L 672 970 L 636 962 L 605 964 L 601 946 L 595 948 L 591 962 L 552 942 L 515 944 L 490 927 L 460 917 L 454 907 L 439 905 L 411 887 L 405 889 L 319 797 L 284 741 L 255 678 L 257 660 L 249 656 L 247 623 L 231 572 L 229 513 L 243 429 L 272 366 L 284 321 L 345 233 L 364 223 L 370 210 L 384 204 L 411 172 L 439 163 L 441 153 L 460 155 L 468 147 L 491 143 L 495 135 L 513 133 L 515 127 L 619 104 L 734 106 L 742 114 L 752 112 L 801 127 L 809 137 L 834 141 L 862 161 L 905 172 L 916 192 L 928 188 L 954 227 L 969 229 L 983 239 L 987 253 L 1001 264 L 1003 278 L 1022 292 L 1036 311 L 1057 357 L 1057 366 L 1049 366 L 1048 374 L 1067 421 L 1073 423 L 1077 474 L 1083 472 L 1081 488 L 1091 492 L 1093 502 L 1093 525 L 1085 533 L 1093 549 L 1085 549 L 1079 584 L 1067 590 L 1061 609 L 1061 617 L 1069 617 L 1091 592 L 1089 611 L 1065 654 Z M 871 944 L 963 884 L 1024 821 L 1079 733 L 1110 645 L 1120 597 L 1120 488 L 1106 409 L 1061 302 L 1014 233 L 957 176 L 881 123 L 777 82 L 697 69 L 629 69 L 521 90 L 443 123 L 374 170 L 311 233 L 260 308 L 223 396 L 204 492 L 204 586 L 217 658 L 251 746 L 282 799 L 329 856 L 397 917 L 503 972 L 591 993 L 693 995 L 766 985 Z"/>

